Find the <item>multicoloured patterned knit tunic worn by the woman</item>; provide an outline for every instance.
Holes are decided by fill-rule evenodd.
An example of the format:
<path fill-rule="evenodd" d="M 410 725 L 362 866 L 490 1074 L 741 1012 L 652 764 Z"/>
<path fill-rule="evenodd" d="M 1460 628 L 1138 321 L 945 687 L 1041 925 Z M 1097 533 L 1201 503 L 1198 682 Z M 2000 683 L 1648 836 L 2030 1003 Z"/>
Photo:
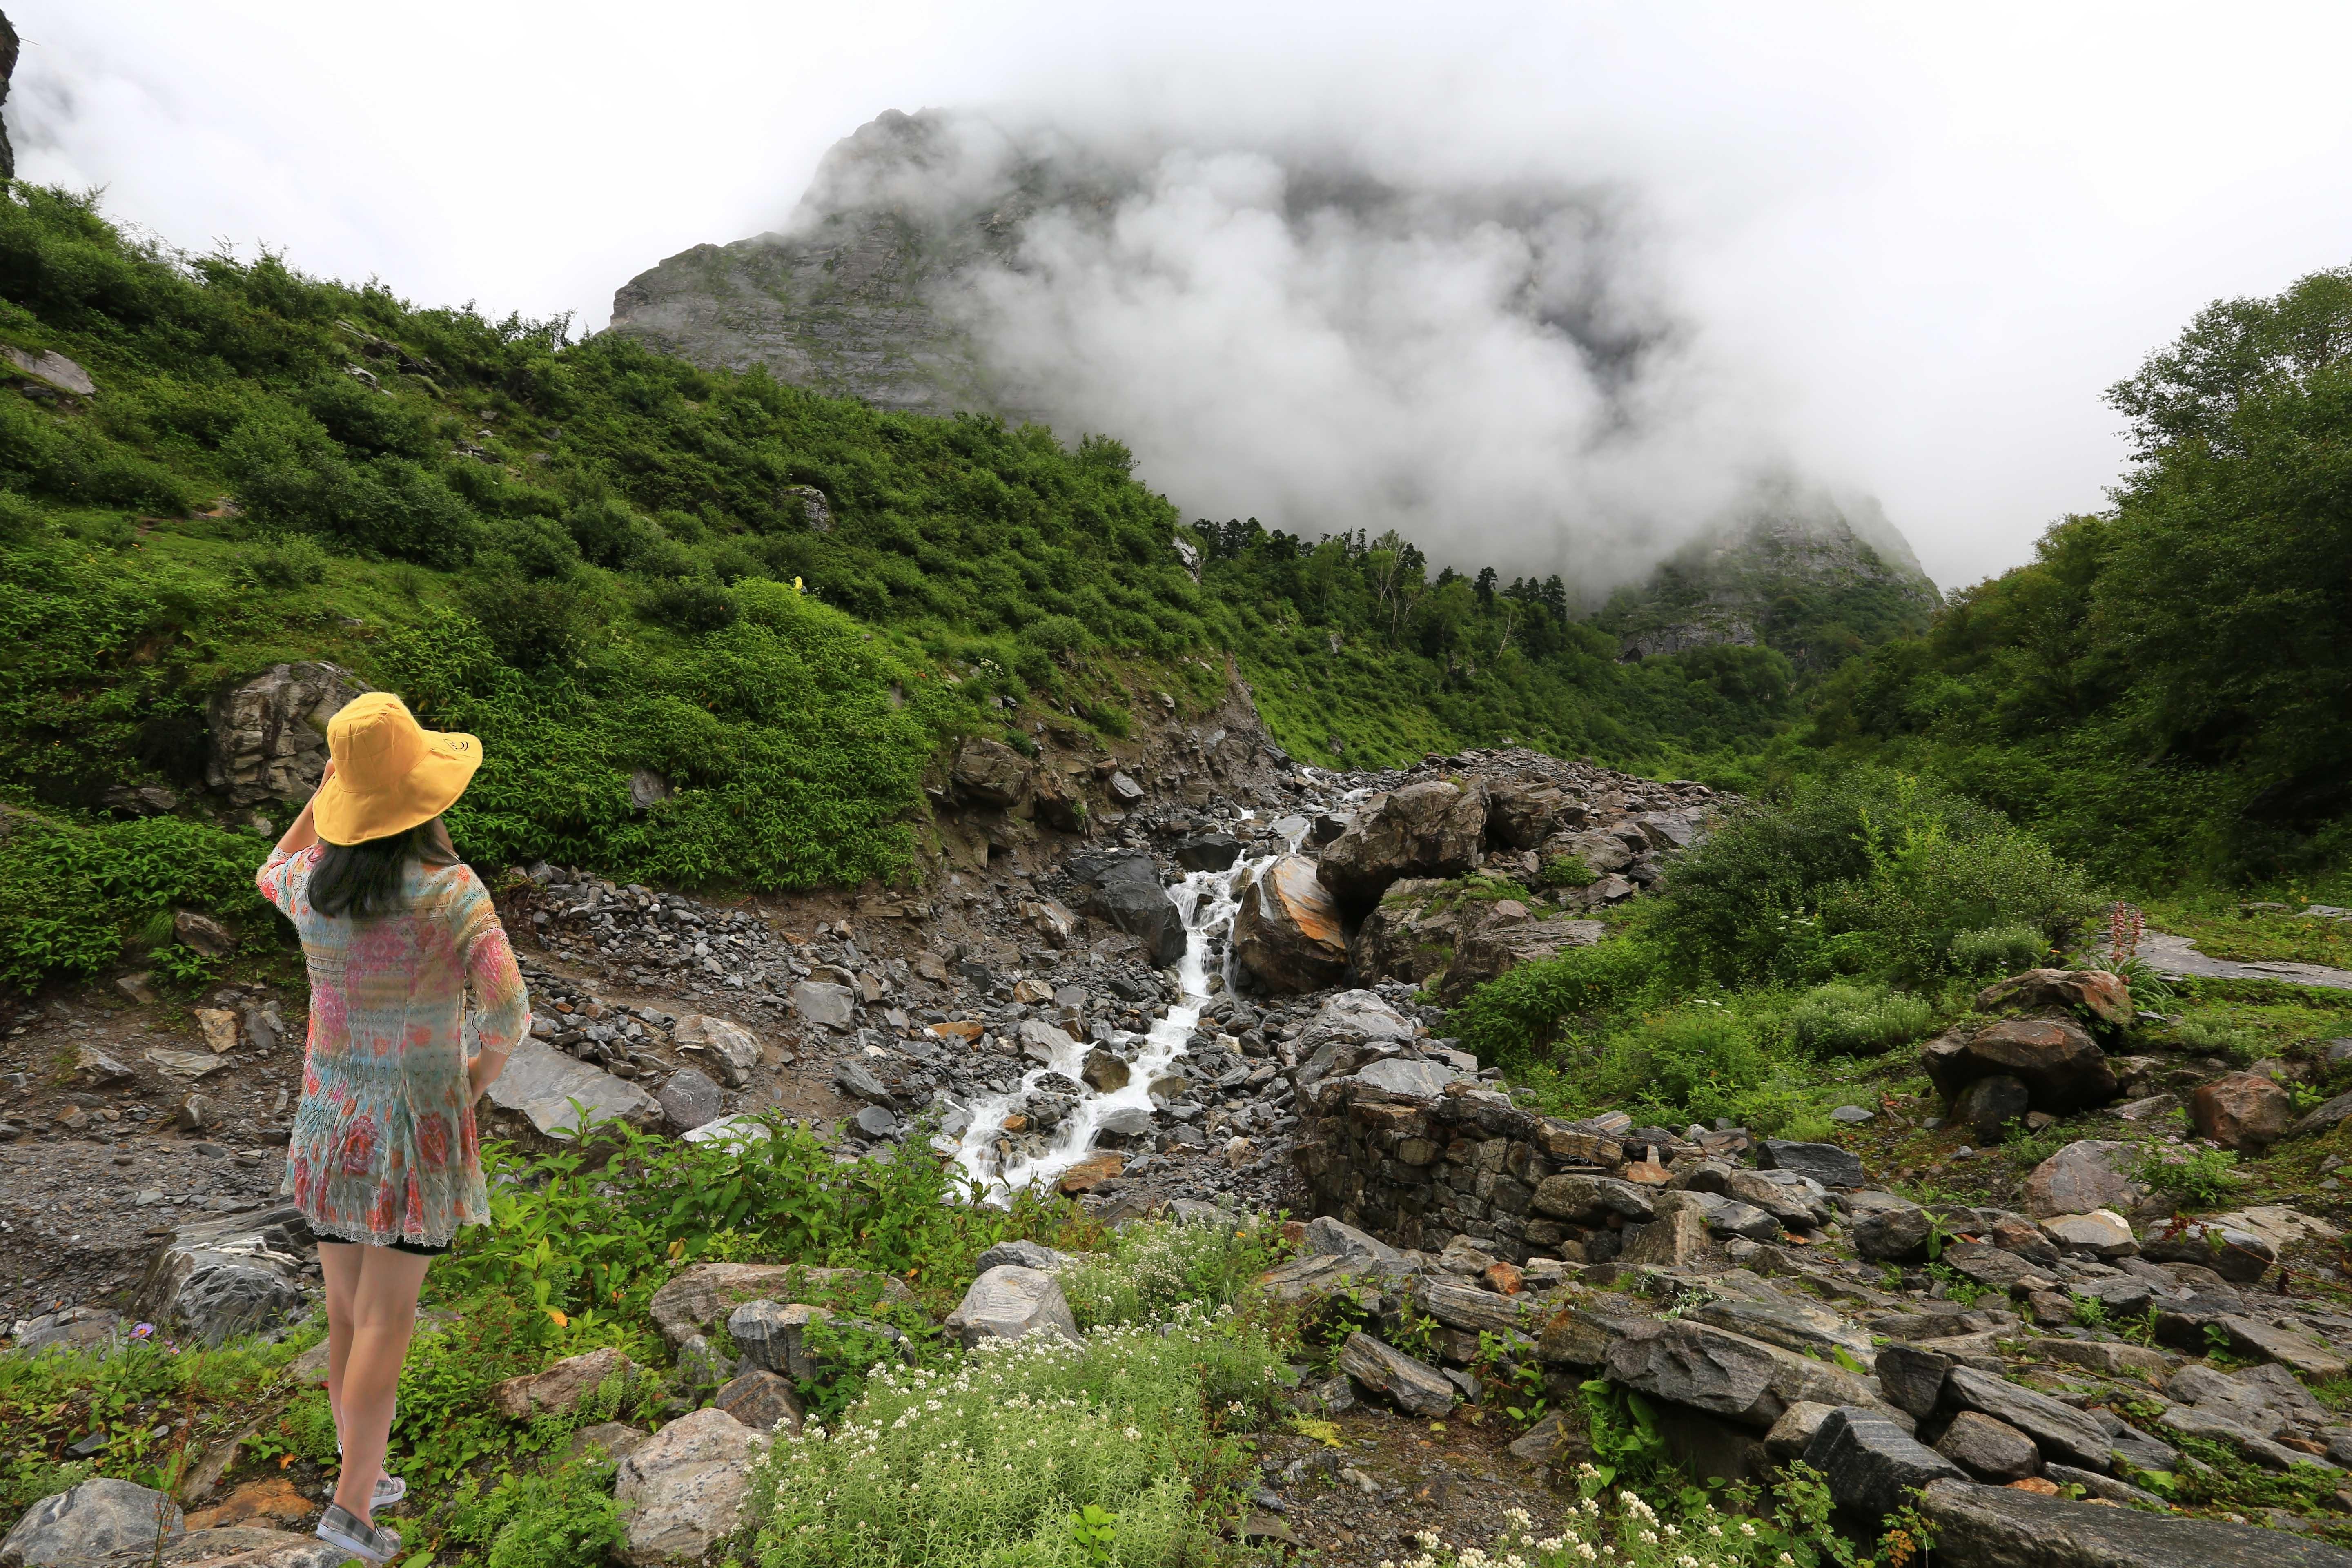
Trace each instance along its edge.
<path fill-rule="evenodd" d="M 318 846 L 273 853 L 254 882 L 301 933 L 310 1046 L 285 1194 L 336 1241 L 447 1246 L 489 1222 L 466 1093 L 468 1037 L 510 1051 L 532 1020 L 482 879 L 412 865 L 397 914 L 310 907 Z M 473 990 L 473 1011 L 466 992 Z"/>

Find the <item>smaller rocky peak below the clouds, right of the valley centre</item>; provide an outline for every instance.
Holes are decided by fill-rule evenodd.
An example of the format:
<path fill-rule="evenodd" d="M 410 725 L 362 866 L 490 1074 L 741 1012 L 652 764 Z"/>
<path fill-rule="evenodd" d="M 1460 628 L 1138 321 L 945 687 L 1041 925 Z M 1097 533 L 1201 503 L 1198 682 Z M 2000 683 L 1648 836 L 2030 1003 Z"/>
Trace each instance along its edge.
<path fill-rule="evenodd" d="M 1776 477 L 1712 536 L 1665 559 L 1599 614 L 1625 658 L 1773 646 L 1802 668 L 1915 632 L 1943 602 L 1877 501 Z"/>

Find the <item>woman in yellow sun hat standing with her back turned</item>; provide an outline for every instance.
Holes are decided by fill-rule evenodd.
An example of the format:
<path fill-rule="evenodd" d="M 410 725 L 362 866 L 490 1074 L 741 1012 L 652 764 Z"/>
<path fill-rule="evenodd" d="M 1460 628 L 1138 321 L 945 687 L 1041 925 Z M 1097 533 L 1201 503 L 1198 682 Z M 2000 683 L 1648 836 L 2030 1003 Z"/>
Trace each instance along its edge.
<path fill-rule="evenodd" d="M 489 891 L 440 813 L 482 764 L 473 736 L 421 729 L 369 691 L 327 722 L 327 776 L 256 882 L 301 933 L 310 1048 L 285 1192 L 327 1276 L 327 1401 L 343 1450 L 327 1542 L 372 1563 L 400 1537 L 374 1509 L 400 1361 L 426 1267 L 489 1220 L 473 1105 L 529 1025 Z M 473 987 L 473 1013 L 466 990 Z M 466 1053 L 466 1034 L 480 1048 Z"/>

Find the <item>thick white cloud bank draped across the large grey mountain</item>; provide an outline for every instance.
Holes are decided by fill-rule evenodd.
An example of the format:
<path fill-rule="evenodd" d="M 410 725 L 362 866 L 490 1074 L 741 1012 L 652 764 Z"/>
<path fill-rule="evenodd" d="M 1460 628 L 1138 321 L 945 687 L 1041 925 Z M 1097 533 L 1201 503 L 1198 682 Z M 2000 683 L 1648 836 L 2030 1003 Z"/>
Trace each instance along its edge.
<path fill-rule="evenodd" d="M 1117 435 L 1188 515 L 1397 529 L 1442 564 L 1599 592 L 1785 468 L 1637 193 L 1444 162 L 1230 113 L 884 115 L 793 228 L 889 212 L 917 252 L 962 254 L 936 303 L 1000 407 Z"/>

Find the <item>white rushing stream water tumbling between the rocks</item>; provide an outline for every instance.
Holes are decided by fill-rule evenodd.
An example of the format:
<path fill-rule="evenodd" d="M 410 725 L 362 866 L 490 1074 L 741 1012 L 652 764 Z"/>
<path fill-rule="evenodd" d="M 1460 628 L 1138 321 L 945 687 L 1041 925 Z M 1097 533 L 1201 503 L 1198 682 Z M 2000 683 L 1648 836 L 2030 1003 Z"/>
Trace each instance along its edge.
<path fill-rule="evenodd" d="M 1294 844 L 1296 849 L 1296 844 Z M 1242 907 L 1242 891 L 1249 882 L 1272 863 L 1272 856 L 1256 860 L 1235 860 L 1232 870 L 1223 872 L 1192 872 L 1183 882 L 1169 886 L 1169 898 L 1176 903 L 1176 912 L 1183 914 L 1185 943 L 1183 957 L 1176 959 L 1176 983 L 1183 997 L 1169 1006 L 1167 1018 L 1152 1023 L 1150 1032 L 1141 1037 L 1120 1034 L 1108 1044 L 1110 1051 L 1127 1058 L 1127 1086 L 1110 1093 L 1096 1093 L 1077 1074 L 1087 1063 L 1087 1051 L 1096 1041 L 1077 1039 L 1068 1048 L 1056 1048 L 1054 1060 L 1044 1065 L 1030 1065 L 1021 1081 L 1014 1084 L 1011 1093 L 985 1095 L 971 1103 L 971 1126 L 964 1128 L 955 1145 L 955 1164 L 962 1173 L 981 1182 L 993 1197 L 1002 1199 L 1028 1185 L 1051 1185 L 1063 1171 L 1075 1166 L 1094 1147 L 1094 1135 L 1103 1126 L 1103 1117 L 1115 1110 L 1141 1110 L 1150 1114 L 1152 1079 L 1164 1077 L 1176 1058 L 1183 1053 L 1185 1041 L 1192 1037 L 1192 1025 L 1200 1023 L 1200 1013 L 1211 1001 L 1209 992 L 1209 950 L 1216 938 L 1232 931 L 1232 917 Z M 1225 985 L 1232 983 L 1232 945 L 1225 943 L 1221 978 Z M 1065 1034 L 1082 1025 L 1056 1025 Z M 1021 1103 L 1037 1088 L 1037 1081 L 1049 1072 L 1077 1084 L 1077 1107 L 1063 1117 L 1047 1138 L 1044 1147 L 1035 1154 L 1004 1157 L 997 1152 L 997 1138 L 1004 1135 L 1004 1117 L 1021 1107 Z"/>

